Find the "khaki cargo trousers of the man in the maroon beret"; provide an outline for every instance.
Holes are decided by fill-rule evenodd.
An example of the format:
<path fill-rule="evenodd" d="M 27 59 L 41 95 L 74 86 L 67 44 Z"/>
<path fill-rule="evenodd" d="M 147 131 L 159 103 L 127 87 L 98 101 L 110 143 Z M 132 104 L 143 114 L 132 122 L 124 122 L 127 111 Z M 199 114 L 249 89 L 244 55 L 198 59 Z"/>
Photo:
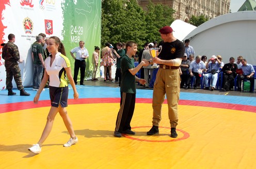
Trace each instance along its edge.
<path fill-rule="evenodd" d="M 161 121 L 162 104 L 165 94 L 168 104 L 168 115 L 171 127 L 178 125 L 178 102 L 180 99 L 180 73 L 179 69 L 158 69 L 153 91 L 153 125 L 158 126 Z"/>

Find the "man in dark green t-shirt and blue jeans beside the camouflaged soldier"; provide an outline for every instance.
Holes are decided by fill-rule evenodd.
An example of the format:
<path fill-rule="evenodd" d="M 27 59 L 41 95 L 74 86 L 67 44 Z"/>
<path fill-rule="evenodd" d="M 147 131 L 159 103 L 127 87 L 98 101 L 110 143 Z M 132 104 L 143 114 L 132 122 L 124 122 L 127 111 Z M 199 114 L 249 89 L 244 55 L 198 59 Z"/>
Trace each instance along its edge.
<path fill-rule="evenodd" d="M 33 90 L 38 90 L 44 68 L 44 58 L 43 58 L 43 47 L 41 45 L 43 37 L 37 36 L 36 42 L 32 45 L 32 59 L 34 64 L 34 74 L 33 74 Z"/>

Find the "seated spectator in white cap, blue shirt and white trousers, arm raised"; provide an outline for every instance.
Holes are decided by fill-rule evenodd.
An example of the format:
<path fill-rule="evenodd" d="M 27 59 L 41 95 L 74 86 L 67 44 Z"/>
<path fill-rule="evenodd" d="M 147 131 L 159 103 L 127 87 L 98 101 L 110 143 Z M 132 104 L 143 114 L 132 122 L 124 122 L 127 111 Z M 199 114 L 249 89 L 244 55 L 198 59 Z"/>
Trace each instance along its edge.
<path fill-rule="evenodd" d="M 210 61 L 211 63 L 209 63 Z M 219 67 L 220 67 L 220 63 L 217 62 L 217 57 L 213 55 L 207 61 L 205 67 L 207 69 L 207 73 L 203 76 L 205 89 L 209 90 L 209 78 L 212 78 L 212 87 L 210 90 L 213 91 L 216 87 L 216 83 L 218 80 Z"/>

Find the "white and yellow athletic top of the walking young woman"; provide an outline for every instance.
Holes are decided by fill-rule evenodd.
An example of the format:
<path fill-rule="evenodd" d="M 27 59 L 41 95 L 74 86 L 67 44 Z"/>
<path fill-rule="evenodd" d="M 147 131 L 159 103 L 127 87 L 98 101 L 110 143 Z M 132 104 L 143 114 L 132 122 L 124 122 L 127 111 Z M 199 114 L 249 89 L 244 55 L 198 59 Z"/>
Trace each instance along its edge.
<path fill-rule="evenodd" d="M 66 71 L 64 67 L 70 67 L 69 59 L 57 53 L 55 59 L 50 66 L 51 57 L 47 57 L 44 61 L 46 66 L 46 72 L 50 76 L 49 86 L 63 88 L 68 86 L 68 80 L 66 79 Z"/>

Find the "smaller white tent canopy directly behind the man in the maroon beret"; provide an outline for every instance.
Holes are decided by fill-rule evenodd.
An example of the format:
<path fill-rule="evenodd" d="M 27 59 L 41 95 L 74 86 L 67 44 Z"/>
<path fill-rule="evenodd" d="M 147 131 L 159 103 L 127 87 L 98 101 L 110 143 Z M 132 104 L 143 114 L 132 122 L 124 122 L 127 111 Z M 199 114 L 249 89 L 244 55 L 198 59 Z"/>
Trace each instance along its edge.
<path fill-rule="evenodd" d="M 182 20 L 175 20 L 174 22 L 172 22 L 171 28 L 174 30 L 173 36 L 182 41 L 188 35 L 188 33 L 196 29 L 197 27 L 188 24 Z"/>

